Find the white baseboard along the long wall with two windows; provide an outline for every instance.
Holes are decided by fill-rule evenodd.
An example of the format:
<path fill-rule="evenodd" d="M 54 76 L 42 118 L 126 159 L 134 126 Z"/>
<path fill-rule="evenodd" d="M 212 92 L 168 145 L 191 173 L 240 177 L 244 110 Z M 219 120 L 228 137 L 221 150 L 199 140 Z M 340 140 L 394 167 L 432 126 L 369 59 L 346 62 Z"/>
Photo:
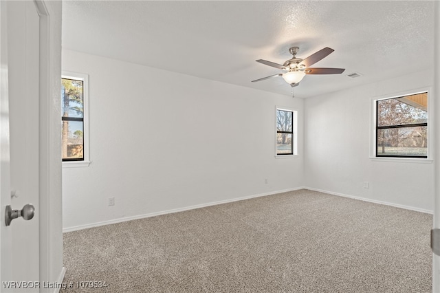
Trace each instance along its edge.
<path fill-rule="evenodd" d="M 144 214 L 144 215 L 136 215 L 136 216 L 131 216 L 131 217 L 111 219 L 109 221 L 100 221 L 100 222 L 96 222 L 96 223 L 92 223 L 92 224 L 63 228 L 63 232 L 72 232 L 72 231 L 76 231 L 76 230 L 83 230 L 83 229 L 88 229 L 88 228 L 93 228 L 93 227 L 98 227 L 98 226 L 121 223 L 123 221 L 131 221 L 134 219 L 144 219 L 144 218 L 155 217 L 155 216 L 159 216 L 159 215 L 179 213 L 179 212 L 184 212 L 185 210 L 194 210 L 196 208 L 206 208 L 207 206 L 217 206 L 217 204 L 228 204 L 229 202 L 239 202 L 241 200 L 251 199 L 254 197 L 263 197 L 263 196 L 267 196 L 267 195 L 275 195 L 278 193 L 287 193 L 289 191 L 298 191 L 300 189 L 303 189 L 303 187 L 289 188 L 289 189 L 284 189 L 281 191 L 271 191 L 269 193 L 260 193 L 260 194 L 256 194 L 256 195 L 245 196 L 245 197 L 236 197 L 233 199 L 220 200 L 218 202 L 208 202 L 206 204 L 197 204 L 195 206 L 186 206 L 184 208 L 174 208 L 172 210 L 163 210 L 160 212 L 148 213 L 148 214 Z"/>

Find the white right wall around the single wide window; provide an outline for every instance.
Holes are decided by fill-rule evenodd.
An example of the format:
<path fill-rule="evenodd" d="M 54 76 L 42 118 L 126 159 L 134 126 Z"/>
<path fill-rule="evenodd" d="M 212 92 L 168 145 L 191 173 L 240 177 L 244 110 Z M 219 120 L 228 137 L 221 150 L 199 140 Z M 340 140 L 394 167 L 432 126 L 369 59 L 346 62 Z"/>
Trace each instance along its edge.
<path fill-rule="evenodd" d="M 432 84 L 426 70 L 305 100 L 305 186 L 432 211 L 434 164 L 369 159 L 371 98 Z"/>

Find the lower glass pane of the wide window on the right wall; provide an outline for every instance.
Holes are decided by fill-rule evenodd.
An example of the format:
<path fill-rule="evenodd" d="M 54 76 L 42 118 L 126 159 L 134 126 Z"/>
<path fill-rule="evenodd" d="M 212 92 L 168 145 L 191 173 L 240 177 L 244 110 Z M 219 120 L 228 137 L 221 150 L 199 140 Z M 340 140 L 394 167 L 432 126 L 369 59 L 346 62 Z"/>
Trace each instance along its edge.
<path fill-rule="evenodd" d="M 377 156 L 427 156 L 428 127 L 377 129 Z"/>

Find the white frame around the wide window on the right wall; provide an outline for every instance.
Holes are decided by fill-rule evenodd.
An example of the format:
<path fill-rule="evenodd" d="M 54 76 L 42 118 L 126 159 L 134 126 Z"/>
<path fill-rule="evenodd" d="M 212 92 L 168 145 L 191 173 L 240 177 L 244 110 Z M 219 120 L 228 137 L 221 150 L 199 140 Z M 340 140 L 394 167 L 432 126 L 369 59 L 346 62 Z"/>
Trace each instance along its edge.
<path fill-rule="evenodd" d="M 378 127 L 377 126 L 377 102 L 380 100 L 388 100 L 393 98 L 402 98 L 404 96 L 411 96 L 415 94 L 428 94 L 428 119 L 426 122 L 426 126 L 428 127 L 428 142 L 427 142 L 427 155 L 425 156 L 410 156 L 410 155 L 377 155 L 377 130 L 384 128 L 393 128 L 393 127 Z M 387 94 L 383 96 L 376 96 L 371 98 L 371 145 L 370 145 L 370 159 L 372 161 L 382 161 L 382 162 L 409 162 L 409 163 L 432 163 L 432 137 L 433 137 L 433 127 L 432 127 L 432 118 L 430 112 L 432 110 L 432 90 L 431 87 L 422 87 L 418 89 L 410 89 L 407 91 L 401 91 L 395 94 Z M 407 124 L 407 125 L 398 125 L 397 127 L 412 127 L 412 126 L 420 126 L 420 124 Z"/>

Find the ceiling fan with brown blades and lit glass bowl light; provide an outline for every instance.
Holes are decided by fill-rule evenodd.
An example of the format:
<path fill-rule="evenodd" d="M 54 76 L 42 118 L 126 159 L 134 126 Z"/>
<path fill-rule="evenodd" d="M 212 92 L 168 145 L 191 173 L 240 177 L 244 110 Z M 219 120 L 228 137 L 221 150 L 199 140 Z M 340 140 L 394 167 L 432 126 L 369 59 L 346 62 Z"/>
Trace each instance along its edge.
<path fill-rule="evenodd" d="M 283 63 L 283 65 L 263 59 L 256 60 L 256 62 L 262 63 L 264 65 L 269 65 L 278 69 L 282 69 L 283 73 L 252 80 L 252 83 L 272 77 L 283 76 L 284 80 L 289 83 L 289 85 L 291 85 L 292 87 L 296 87 L 297 85 L 299 85 L 300 81 L 306 74 L 342 74 L 342 72 L 344 72 L 345 70 L 342 68 L 309 67 L 310 65 L 314 65 L 315 63 L 320 61 L 322 58 L 327 57 L 329 54 L 331 54 L 331 52 L 334 51 L 329 47 L 325 47 L 324 49 L 319 50 L 314 54 L 311 54 L 305 59 L 296 58 L 296 54 L 298 53 L 299 49 L 299 47 L 291 47 L 289 49 L 289 52 L 290 54 L 292 54 L 292 58 Z"/>

